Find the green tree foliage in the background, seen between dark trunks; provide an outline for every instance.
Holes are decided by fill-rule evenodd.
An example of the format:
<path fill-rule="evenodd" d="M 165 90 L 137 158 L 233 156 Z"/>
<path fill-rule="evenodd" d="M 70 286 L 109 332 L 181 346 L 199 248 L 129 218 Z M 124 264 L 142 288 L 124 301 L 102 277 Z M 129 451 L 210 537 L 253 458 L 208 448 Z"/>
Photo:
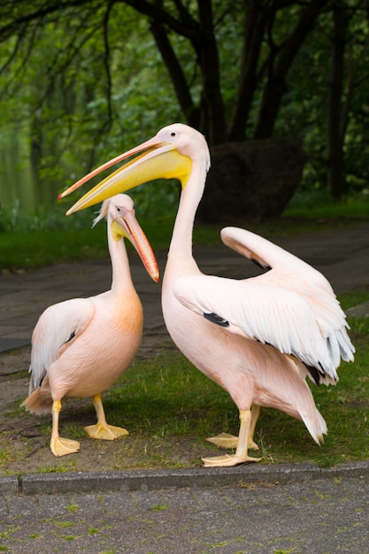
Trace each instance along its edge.
<path fill-rule="evenodd" d="M 14 227 L 17 212 L 33 213 L 36 207 L 56 212 L 58 192 L 93 166 L 142 142 L 165 124 L 186 119 L 150 34 L 150 21 L 126 3 L 61 3 L 49 17 L 29 22 L 27 32 L 17 35 L 15 26 L 14 34 L 3 35 L 14 18 L 29 14 L 30 6 L 39 8 L 35 1 L 16 4 L 12 10 L 9 3 L 0 8 L 0 37 L 4 41 L 0 51 L 0 230 Z M 175 18 L 178 12 L 174 4 L 165 2 L 163 9 Z M 51 8 L 57 4 L 45 5 Z M 317 191 L 323 195 L 327 190 L 333 5 L 329 3 L 327 10 L 322 10 L 297 52 L 274 130 L 274 135 L 296 137 L 303 143 L 308 162 L 300 189 L 311 195 Z M 341 5 L 350 7 L 341 112 L 344 172 L 347 193 L 352 195 L 367 189 L 369 177 L 369 25 L 367 13 L 357 3 L 347 0 Z M 186 3 L 185 7 L 194 24 L 198 23 L 196 3 Z M 250 6 L 245 8 L 242 3 L 212 3 L 227 122 L 245 70 L 241 53 L 246 23 L 252 15 L 248 9 Z M 257 127 L 268 78 L 276 71 L 274 61 L 305 5 L 266 2 L 258 9 L 265 10 L 270 20 L 260 43 L 255 82 L 246 87 L 252 97 L 247 138 L 252 138 Z M 168 39 L 194 110 L 204 109 L 208 99 L 204 98 L 204 76 L 194 44 L 181 32 L 181 26 L 178 33 L 168 31 Z M 219 114 L 212 117 L 216 119 Z M 175 185 L 140 189 L 137 198 L 142 216 L 173 211 L 177 203 L 174 189 Z M 39 226 L 45 219 L 41 215 Z"/>

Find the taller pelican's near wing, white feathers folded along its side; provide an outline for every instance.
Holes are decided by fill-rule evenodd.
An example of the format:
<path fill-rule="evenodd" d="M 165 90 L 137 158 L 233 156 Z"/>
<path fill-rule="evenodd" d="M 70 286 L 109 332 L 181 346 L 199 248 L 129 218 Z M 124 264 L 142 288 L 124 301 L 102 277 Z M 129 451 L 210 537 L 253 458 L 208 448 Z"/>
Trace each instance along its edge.
<path fill-rule="evenodd" d="M 296 292 L 207 275 L 181 277 L 173 290 L 181 304 L 226 331 L 270 344 L 337 381 L 331 352 L 311 306 Z"/>

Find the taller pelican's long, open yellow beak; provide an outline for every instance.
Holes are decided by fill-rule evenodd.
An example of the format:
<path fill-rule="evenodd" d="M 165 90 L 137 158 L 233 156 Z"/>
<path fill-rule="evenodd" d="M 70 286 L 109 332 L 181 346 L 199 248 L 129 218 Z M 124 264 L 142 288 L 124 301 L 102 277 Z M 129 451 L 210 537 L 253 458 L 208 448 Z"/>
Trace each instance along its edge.
<path fill-rule="evenodd" d="M 192 163 L 190 158 L 181 154 L 172 142 L 164 142 L 158 136 L 154 136 L 149 141 L 142 142 L 132 150 L 128 150 L 124 154 L 120 154 L 116 158 L 112 158 L 100 167 L 97 167 L 88 175 L 85 175 L 70 187 L 66 189 L 60 196 L 59 200 L 64 196 L 71 194 L 75 189 L 78 189 L 85 182 L 95 177 L 98 173 L 104 171 L 111 165 L 137 155 L 136 158 L 127 162 L 120 167 L 104 181 L 99 182 L 96 187 L 89 190 L 84 196 L 73 204 L 66 215 L 73 212 L 78 212 L 88 206 L 98 204 L 110 196 L 114 196 L 119 192 L 125 192 L 129 189 L 134 189 L 147 181 L 155 179 L 173 179 L 174 177 L 181 181 L 182 187 L 188 181 L 191 173 Z"/>

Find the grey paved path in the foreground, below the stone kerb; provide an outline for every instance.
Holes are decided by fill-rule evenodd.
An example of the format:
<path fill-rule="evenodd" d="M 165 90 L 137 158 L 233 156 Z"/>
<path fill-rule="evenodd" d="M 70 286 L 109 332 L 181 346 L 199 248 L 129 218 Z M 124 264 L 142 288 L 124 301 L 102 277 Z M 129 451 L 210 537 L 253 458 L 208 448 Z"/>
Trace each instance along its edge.
<path fill-rule="evenodd" d="M 365 554 L 360 478 L 0 499 L 12 554 Z"/>

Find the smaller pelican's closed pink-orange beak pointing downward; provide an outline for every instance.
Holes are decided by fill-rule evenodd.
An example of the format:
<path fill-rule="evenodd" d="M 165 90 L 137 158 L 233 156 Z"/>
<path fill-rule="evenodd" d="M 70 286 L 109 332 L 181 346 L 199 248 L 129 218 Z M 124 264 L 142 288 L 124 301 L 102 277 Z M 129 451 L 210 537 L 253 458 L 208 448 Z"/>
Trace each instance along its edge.
<path fill-rule="evenodd" d="M 132 242 L 137 250 L 142 264 L 145 266 L 146 271 L 149 273 L 151 279 L 155 282 L 159 281 L 159 270 L 157 258 L 150 246 L 150 242 L 147 236 L 143 233 L 142 228 L 135 219 L 135 212 L 127 212 L 117 219 L 112 221 L 112 234 L 119 240 L 121 236 L 127 237 Z"/>

